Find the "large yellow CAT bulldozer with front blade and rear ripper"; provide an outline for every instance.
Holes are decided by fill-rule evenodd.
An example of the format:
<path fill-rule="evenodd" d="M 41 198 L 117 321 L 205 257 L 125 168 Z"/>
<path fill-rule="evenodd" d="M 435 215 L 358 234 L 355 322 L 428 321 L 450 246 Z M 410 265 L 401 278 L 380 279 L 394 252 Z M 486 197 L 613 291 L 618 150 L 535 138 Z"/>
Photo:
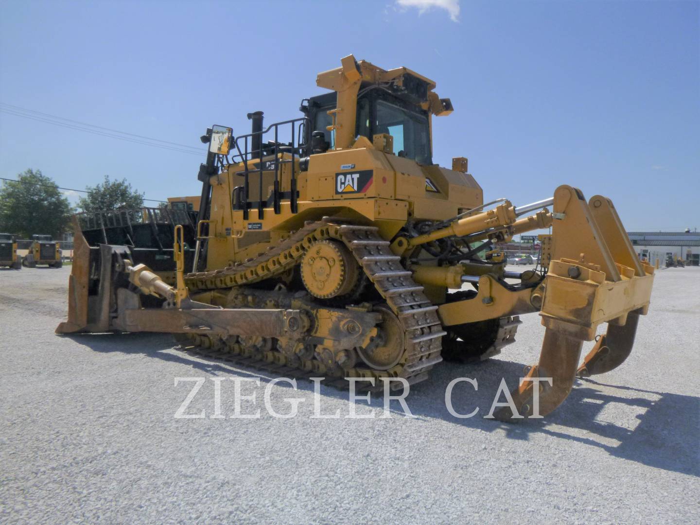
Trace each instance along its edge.
<path fill-rule="evenodd" d="M 577 375 L 625 360 L 654 268 L 607 197 L 564 185 L 532 204 L 484 202 L 466 158 L 433 162 L 433 117 L 453 109 L 433 80 L 350 55 L 316 83 L 330 91 L 304 99 L 300 118 L 264 126 L 256 111 L 249 133 L 207 130 L 197 211 L 76 216 L 57 332 L 171 332 L 277 374 L 405 388 L 443 358 L 496 355 L 519 316 L 539 312 L 545 337 L 526 379 L 549 379 L 521 381 L 503 420 L 532 416 L 537 398 L 545 415 Z M 477 255 L 549 227 L 535 270 Z"/>

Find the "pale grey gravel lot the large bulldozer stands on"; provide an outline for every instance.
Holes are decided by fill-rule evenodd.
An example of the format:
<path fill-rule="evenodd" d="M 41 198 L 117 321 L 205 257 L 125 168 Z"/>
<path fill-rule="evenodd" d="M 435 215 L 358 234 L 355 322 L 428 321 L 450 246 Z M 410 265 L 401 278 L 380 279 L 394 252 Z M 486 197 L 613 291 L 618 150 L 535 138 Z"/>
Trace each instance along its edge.
<path fill-rule="evenodd" d="M 523 267 L 519 267 L 520 270 Z M 484 419 L 500 379 L 517 384 L 544 332 L 525 316 L 518 342 L 480 365 L 442 363 L 412 389 L 414 418 L 311 419 L 313 385 L 174 349 L 167 335 L 54 335 L 66 315 L 62 269 L 0 269 L 0 521 L 72 523 L 503 522 L 699 523 L 700 268 L 657 273 L 632 356 L 580 381 L 541 421 Z M 588 344 L 584 351 L 590 348 Z M 174 414 L 202 377 L 186 414 Z M 261 377 L 260 419 L 211 419 L 211 378 Z M 444 403 L 461 383 L 456 419 Z M 222 413 L 234 411 L 221 383 Z M 321 411 L 349 412 L 348 393 L 321 388 Z M 249 401 L 244 413 L 253 412 Z M 382 414 L 381 399 L 358 414 Z"/>

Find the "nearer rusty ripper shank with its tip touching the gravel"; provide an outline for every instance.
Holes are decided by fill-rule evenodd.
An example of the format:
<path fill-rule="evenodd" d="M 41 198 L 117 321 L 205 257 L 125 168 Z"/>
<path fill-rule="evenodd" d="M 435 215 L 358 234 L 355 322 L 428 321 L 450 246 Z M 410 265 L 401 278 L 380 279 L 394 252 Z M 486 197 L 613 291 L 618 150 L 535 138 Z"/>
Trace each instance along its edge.
<path fill-rule="evenodd" d="M 576 379 L 582 346 L 582 339 L 572 337 L 565 331 L 547 328 L 539 363 L 530 369 L 519 388 L 511 393 L 517 414 L 510 407 L 500 407 L 493 414 L 496 419 L 511 422 L 525 417 L 537 419 L 561 405 Z M 541 380 L 528 380 L 533 377 Z M 538 388 L 536 396 L 534 388 Z"/>

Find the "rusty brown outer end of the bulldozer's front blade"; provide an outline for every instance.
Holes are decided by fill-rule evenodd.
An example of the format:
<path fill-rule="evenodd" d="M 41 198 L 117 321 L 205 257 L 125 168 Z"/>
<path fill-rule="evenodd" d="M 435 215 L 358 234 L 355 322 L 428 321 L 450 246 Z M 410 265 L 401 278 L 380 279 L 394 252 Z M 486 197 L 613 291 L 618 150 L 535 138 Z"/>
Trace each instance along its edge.
<path fill-rule="evenodd" d="M 87 286 L 90 276 L 90 246 L 80 231 L 78 218 L 73 217 L 73 266 L 68 281 L 68 321 L 60 323 L 57 334 L 81 332 L 87 327 Z"/>

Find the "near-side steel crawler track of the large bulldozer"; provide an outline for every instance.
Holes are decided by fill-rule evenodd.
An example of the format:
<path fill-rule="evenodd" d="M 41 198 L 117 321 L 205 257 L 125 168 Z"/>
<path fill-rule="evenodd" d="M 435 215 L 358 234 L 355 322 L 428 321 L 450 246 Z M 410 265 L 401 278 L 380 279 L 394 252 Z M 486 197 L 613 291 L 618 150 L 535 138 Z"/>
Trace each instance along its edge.
<path fill-rule="evenodd" d="M 307 223 L 257 258 L 214 272 L 188 274 L 186 284 L 190 290 L 215 290 L 263 281 L 293 268 L 311 244 L 323 239 L 342 241 L 349 248 L 385 304 L 397 316 L 404 337 L 404 353 L 397 365 L 389 370 L 374 370 L 365 363 L 343 369 L 329 368 L 316 356 L 308 359 L 289 356 L 280 351 L 275 342 L 269 349 L 251 349 L 237 338 L 224 341 L 206 335 L 189 336 L 194 346 L 183 346 L 183 349 L 288 377 L 308 379 L 330 375 L 323 383 L 338 388 L 346 388 L 349 384 L 344 377 L 374 378 L 374 388 L 383 387 L 382 381 L 378 380 L 383 377 L 402 377 L 409 384 L 428 379 L 429 370 L 442 360 L 442 336 L 446 332 L 437 317 L 437 307 L 430 303 L 423 287 L 412 279 L 412 272 L 405 269 L 400 258 L 391 252 L 388 241 L 381 238 L 376 227 L 338 224 L 330 219 Z M 295 343 L 311 344 L 304 339 Z M 392 386 L 400 387 L 400 384 L 395 381 Z M 370 387 L 369 383 L 367 387 Z"/>

